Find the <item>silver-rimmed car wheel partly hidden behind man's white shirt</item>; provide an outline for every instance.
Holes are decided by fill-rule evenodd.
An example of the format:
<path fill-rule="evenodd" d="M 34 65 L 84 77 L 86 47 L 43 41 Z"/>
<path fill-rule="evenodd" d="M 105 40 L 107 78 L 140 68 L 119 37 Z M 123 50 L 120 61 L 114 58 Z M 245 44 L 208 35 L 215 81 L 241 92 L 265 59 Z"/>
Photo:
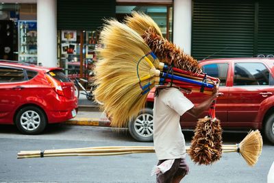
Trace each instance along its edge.
<path fill-rule="evenodd" d="M 129 134 L 140 142 L 153 141 L 153 110 L 145 108 L 129 121 Z"/>

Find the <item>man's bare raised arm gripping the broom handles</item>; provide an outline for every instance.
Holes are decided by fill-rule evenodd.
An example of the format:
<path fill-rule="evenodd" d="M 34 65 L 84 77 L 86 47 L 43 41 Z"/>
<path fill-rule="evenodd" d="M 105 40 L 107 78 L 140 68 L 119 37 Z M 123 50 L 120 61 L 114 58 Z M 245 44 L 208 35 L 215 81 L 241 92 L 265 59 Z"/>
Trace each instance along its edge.
<path fill-rule="evenodd" d="M 206 101 L 203 101 L 202 103 L 200 103 L 197 106 L 194 106 L 193 108 L 191 108 L 190 110 L 188 110 L 188 114 L 191 114 L 193 117 L 199 117 L 199 115 L 207 110 L 208 108 L 210 108 L 210 105 L 212 103 L 212 101 L 214 99 L 216 99 L 216 97 L 218 96 L 218 91 L 219 91 L 219 85 L 214 85 L 214 89 L 212 92 L 212 95 L 210 96 L 210 98 L 206 99 Z"/>

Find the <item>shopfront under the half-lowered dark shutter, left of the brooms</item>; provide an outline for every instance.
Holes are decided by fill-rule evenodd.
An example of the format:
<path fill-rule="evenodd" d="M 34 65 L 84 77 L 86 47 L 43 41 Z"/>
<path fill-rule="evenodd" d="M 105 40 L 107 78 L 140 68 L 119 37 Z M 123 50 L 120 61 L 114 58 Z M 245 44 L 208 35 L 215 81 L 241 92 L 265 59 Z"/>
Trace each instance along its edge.
<path fill-rule="evenodd" d="M 88 77 L 97 60 L 99 27 L 115 16 L 114 0 L 57 1 L 58 64 L 70 77 Z"/>

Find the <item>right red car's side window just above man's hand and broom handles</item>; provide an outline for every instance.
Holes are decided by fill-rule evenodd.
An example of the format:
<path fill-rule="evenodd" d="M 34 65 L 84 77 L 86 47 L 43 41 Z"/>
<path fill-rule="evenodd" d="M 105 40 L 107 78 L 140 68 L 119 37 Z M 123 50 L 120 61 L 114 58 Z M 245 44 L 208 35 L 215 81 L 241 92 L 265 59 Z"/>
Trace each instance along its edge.
<path fill-rule="evenodd" d="M 202 69 L 203 73 L 206 73 L 212 77 L 218 77 L 221 81 L 220 86 L 225 86 L 227 82 L 227 63 L 207 64 L 204 65 Z"/>

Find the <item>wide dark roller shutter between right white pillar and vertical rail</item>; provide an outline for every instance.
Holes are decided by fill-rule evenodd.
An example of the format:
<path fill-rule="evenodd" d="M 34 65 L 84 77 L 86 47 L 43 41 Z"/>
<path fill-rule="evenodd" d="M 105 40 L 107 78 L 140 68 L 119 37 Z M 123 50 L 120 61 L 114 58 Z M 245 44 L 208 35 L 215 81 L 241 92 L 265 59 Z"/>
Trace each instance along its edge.
<path fill-rule="evenodd" d="M 192 56 L 253 56 L 254 1 L 193 0 Z"/>

